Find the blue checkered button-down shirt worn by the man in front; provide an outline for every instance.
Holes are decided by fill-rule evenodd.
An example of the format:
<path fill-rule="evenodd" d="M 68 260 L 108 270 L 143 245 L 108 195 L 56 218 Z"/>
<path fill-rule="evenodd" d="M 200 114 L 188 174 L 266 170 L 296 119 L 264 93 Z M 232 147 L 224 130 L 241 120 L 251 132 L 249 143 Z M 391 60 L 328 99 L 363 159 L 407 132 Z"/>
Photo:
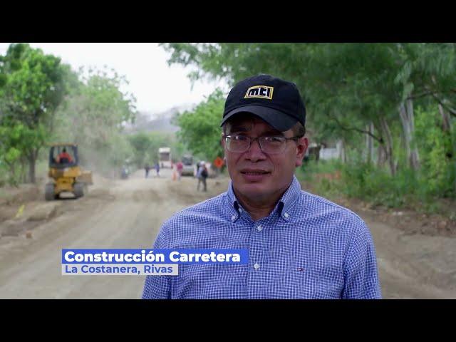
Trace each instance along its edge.
<path fill-rule="evenodd" d="M 143 299 L 380 299 L 371 232 L 350 210 L 301 190 L 296 177 L 254 221 L 227 192 L 183 209 L 155 249 L 248 249 L 249 263 L 180 264 L 146 276 Z"/>

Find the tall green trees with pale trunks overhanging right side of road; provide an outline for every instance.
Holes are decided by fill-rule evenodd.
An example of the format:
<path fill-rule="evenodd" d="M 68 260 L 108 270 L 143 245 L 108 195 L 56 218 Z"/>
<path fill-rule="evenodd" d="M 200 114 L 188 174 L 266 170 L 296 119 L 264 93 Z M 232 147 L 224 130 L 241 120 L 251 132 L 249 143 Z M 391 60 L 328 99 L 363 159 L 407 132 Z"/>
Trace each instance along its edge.
<path fill-rule="evenodd" d="M 296 83 L 311 138 L 340 138 L 361 153 L 356 135 L 378 146 L 378 166 L 420 167 L 415 137 L 418 105 L 439 109 L 443 135 L 456 118 L 455 43 L 168 43 L 168 63 L 196 67 L 189 76 L 225 78 L 232 86 L 270 73 Z M 400 139 L 396 139 L 398 136 Z M 374 144 L 369 142 L 373 139 Z M 362 140 L 361 140 L 362 141 Z M 447 139 L 447 141 L 450 141 Z M 405 153 L 399 147 L 403 146 Z M 446 144 L 445 155 L 455 155 Z M 443 156 L 442 156 L 443 157 Z"/>

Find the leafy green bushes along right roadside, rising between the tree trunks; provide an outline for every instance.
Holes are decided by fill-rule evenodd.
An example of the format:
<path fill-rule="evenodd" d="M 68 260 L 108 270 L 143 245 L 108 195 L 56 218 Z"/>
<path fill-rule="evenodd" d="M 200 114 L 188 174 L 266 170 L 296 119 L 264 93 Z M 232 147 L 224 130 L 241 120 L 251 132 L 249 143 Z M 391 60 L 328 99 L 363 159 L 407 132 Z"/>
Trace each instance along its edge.
<path fill-rule="evenodd" d="M 420 169 L 412 170 L 406 152 L 400 147 L 400 127 L 395 133 L 395 161 L 398 170 L 390 175 L 388 167 L 378 167 L 363 160 L 362 150 L 351 148 L 350 162 L 339 160 L 310 161 L 297 173 L 310 182 L 314 192 L 331 197 L 335 194 L 356 197 L 372 204 L 386 207 L 410 207 L 424 212 L 437 212 L 442 197 L 456 198 L 456 120 L 452 131 L 442 130 L 442 118 L 438 108 L 415 110 L 415 139 L 418 147 Z M 331 176 L 341 171 L 340 179 Z"/>

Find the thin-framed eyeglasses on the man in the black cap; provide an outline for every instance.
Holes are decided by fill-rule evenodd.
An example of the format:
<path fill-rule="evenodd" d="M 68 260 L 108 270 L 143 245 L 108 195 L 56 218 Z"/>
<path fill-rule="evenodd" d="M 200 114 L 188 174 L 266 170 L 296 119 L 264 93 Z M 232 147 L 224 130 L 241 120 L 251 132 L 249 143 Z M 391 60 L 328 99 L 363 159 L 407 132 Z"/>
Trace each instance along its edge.
<path fill-rule="evenodd" d="M 249 150 L 252 142 L 258 140 L 259 147 L 264 153 L 281 153 L 284 152 L 286 148 L 286 142 L 288 140 L 298 140 L 302 137 L 257 137 L 252 138 L 247 135 L 226 135 L 224 137 L 227 150 L 230 152 L 246 152 Z"/>

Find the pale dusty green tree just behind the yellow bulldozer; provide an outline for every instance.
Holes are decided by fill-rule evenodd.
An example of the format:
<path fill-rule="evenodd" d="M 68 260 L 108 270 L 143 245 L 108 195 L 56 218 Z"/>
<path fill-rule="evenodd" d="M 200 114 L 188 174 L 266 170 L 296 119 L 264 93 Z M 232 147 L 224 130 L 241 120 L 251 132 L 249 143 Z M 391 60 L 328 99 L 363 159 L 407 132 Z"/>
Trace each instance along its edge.
<path fill-rule="evenodd" d="M 57 110 L 52 140 L 78 144 L 82 165 L 116 175 L 115 170 L 134 154 L 123 124 L 135 119 L 135 98 L 120 90 L 127 81 L 113 70 L 81 69 L 80 80 L 70 76 L 70 91 Z"/>

